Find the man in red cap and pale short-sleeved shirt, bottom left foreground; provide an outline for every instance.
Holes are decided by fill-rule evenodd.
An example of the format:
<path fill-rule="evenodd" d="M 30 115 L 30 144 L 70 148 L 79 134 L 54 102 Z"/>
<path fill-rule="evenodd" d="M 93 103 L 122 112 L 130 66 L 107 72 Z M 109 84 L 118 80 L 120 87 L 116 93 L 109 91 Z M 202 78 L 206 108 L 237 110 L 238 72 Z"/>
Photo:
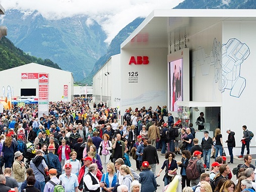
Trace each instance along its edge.
<path fill-rule="evenodd" d="M 65 183 L 65 190 L 70 192 L 78 192 L 78 179 L 77 175 L 71 173 L 72 165 L 67 163 L 65 165 L 65 173 L 59 176 L 59 180 Z"/>

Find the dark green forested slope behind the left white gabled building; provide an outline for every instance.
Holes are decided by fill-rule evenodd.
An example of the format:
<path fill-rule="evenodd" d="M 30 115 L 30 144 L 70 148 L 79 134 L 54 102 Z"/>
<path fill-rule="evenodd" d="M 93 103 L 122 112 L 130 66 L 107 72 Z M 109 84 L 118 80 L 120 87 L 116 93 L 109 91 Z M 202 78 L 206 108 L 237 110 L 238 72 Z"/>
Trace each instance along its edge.
<path fill-rule="evenodd" d="M 35 62 L 51 68 L 60 69 L 60 67 L 49 59 L 36 58 L 23 52 L 21 49 L 14 46 L 14 44 L 6 37 L 0 41 L 0 71 L 8 70 L 27 63 Z"/>

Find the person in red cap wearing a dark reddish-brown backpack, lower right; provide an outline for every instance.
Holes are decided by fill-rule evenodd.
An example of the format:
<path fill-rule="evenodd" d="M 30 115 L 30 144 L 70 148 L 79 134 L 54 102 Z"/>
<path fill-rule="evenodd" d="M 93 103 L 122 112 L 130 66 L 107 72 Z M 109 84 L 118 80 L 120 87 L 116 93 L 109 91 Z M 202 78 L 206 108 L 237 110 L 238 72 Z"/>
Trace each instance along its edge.
<path fill-rule="evenodd" d="M 201 161 L 201 155 L 201 151 L 195 151 L 193 157 L 188 161 L 186 176 L 190 179 L 190 186 L 197 185 L 200 181 L 200 175 L 205 172 L 205 167 Z"/>

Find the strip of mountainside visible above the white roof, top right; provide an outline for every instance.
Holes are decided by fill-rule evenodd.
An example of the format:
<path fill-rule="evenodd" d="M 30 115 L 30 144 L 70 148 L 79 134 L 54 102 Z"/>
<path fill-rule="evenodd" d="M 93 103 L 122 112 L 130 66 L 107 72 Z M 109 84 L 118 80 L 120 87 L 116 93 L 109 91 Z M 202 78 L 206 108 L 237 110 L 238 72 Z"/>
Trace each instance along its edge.
<path fill-rule="evenodd" d="M 256 9 L 255 0 L 185 0 L 173 9 Z"/>

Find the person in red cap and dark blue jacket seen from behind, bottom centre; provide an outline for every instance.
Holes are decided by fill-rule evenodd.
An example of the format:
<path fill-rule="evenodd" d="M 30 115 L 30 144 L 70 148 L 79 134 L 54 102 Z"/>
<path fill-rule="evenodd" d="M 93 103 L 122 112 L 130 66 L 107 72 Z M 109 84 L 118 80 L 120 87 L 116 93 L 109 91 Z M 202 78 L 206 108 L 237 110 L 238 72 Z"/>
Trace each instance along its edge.
<path fill-rule="evenodd" d="M 157 189 L 156 178 L 150 170 L 148 161 L 143 161 L 140 172 L 141 192 L 154 192 Z"/>

